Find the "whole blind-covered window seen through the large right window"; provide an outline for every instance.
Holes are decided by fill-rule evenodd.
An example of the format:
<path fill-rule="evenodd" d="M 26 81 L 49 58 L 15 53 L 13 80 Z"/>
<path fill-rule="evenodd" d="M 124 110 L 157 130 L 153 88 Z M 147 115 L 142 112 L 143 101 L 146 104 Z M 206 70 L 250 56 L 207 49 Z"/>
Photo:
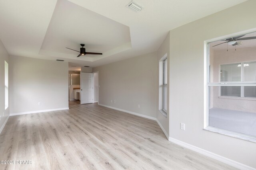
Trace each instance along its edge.
<path fill-rule="evenodd" d="M 220 65 L 220 82 L 256 82 L 256 62 Z M 220 96 L 256 98 L 256 86 L 221 86 Z"/>

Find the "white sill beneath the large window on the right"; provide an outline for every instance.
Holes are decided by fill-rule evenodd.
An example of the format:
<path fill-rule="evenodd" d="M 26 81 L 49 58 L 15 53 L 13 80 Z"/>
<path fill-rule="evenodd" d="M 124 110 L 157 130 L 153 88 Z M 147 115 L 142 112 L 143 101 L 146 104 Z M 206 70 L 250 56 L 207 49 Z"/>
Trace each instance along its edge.
<path fill-rule="evenodd" d="M 210 126 L 205 127 L 204 130 L 256 143 L 256 137 L 253 137 L 250 135 L 227 131 L 224 129 L 218 129 L 216 127 L 210 127 Z"/>

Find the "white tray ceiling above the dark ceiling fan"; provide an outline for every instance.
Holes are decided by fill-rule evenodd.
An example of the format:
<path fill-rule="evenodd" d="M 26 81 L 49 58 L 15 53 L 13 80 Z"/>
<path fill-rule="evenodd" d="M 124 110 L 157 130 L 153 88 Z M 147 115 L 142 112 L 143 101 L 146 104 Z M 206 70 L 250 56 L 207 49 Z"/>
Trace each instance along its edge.
<path fill-rule="evenodd" d="M 168 31 L 246 0 L 2 0 L 0 39 L 10 55 L 99 66 L 157 51 Z M 103 55 L 76 57 L 80 43 Z"/>

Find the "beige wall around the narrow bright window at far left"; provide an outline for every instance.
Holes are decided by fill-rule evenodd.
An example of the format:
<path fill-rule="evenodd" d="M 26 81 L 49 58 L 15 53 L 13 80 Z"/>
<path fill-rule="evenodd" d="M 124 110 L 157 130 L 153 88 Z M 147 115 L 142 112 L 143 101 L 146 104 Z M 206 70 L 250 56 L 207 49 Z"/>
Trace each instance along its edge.
<path fill-rule="evenodd" d="M 10 82 L 10 64 L 9 64 L 9 55 L 0 40 L 0 132 L 3 128 L 4 122 L 6 121 L 7 117 L 9 116 L 9 108 L 10 108 L 10 100 L 9 100 L 9 107 L 5 110 L 5 90 L 4 90 L 4 61 L 8 63 L 9 67 L 9 82 Z M 10 87 L 10 83 L 9 83 Z M 10 94 L 10 88 L 9 88 Z M 9 97 L 10 99 L 10 97 Z"/>

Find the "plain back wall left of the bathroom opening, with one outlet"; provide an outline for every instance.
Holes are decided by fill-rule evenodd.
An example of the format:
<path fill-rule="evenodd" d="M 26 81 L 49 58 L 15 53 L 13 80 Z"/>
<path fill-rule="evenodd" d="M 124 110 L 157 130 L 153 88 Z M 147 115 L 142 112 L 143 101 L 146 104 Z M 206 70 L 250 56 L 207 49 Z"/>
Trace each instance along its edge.
<path fill-rule="evenodd" d="M 68 107 L 68 63 L 10 56 L 9 66 L 11 114 Z"/>

